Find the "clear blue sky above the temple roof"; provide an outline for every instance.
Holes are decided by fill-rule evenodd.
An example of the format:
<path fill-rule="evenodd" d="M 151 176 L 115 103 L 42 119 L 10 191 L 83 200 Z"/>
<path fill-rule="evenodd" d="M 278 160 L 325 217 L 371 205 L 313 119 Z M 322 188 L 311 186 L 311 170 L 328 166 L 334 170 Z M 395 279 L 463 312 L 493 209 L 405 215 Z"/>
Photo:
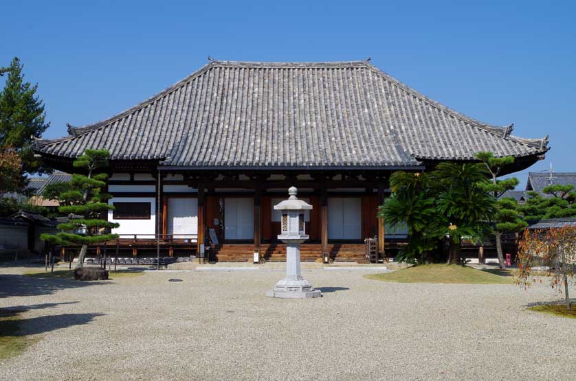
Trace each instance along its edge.
<path fill-rule="evenodd" d="M 576 172 L 575 1 L 8 1 L 0 65 L 19 56 L 51 127 L 105 119 L 220 60 L 363 60 L 515 135 L 550 135 L 531 171 Z M 1 80 L 0 80 L 1 81 Z M 3 82 L 0 82 L 2 85 Z M 527 171 L 516 174 L 525 182 Z"/>

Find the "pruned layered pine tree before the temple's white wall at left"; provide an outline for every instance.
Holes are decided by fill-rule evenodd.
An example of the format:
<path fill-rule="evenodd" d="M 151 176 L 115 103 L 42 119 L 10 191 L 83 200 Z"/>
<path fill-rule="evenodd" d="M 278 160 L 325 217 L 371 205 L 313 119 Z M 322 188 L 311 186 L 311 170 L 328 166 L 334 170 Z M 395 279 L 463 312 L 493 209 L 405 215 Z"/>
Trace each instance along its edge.
<path fill-rule="evenodd" d="M 74 161 L 74 168 L 87 174 L 73 174 L 69 183 L 70 189 L 58 196 L 58 211 L 68 216 L 69 221 L 58 224 L 60 232 L 41 235 L 42 240 L 53 244 L 82 244 L 76 268 L 83 266 L 89 244 L 118 238 L 117 234 L 100 232 L 100 229 L 120 226 L 101 218 L 102 213 L 114 209 L 108 205 L 111 195 L 101 192 L 106 186 L 108 175 L 99 170 L 108 166 L 108 158 L 107 150 L 86 150 Z"/>

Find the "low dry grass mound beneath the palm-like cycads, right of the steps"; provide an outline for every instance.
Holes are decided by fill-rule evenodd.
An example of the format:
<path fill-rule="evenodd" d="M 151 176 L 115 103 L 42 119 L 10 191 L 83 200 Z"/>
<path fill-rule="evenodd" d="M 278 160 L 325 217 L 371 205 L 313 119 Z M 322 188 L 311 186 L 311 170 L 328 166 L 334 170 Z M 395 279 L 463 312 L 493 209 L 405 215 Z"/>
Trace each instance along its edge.
<path fill-rule="evenodd" d="M 398 283 L 443 284 L 512 284 L 509 273 L 495 274 L 491 271 L 447 264 L 423 264 L 397 270 L 392 273 L 365 275 L 368 279 L 395 281 Z"/>

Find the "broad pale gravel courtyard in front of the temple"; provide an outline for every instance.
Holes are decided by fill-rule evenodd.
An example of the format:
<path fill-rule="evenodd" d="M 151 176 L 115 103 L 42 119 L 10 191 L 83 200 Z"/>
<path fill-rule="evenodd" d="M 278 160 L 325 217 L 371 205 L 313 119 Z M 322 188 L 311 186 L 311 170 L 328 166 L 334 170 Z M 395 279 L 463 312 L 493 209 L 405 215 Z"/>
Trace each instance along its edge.
<path fill-rule="evenodd" d="M 573 380 L 576 321 L 525 310 L 550 288 L 304 277 L 320 299 L 266 298 L 278 271 L 146 273 L 98 283 L 0 268 L 0 307 L 41 339 L 0 380 Z M 171 282 L 170 278 L 182 281 Z M 576 290 L 573 290 L 575 292 Z"/>

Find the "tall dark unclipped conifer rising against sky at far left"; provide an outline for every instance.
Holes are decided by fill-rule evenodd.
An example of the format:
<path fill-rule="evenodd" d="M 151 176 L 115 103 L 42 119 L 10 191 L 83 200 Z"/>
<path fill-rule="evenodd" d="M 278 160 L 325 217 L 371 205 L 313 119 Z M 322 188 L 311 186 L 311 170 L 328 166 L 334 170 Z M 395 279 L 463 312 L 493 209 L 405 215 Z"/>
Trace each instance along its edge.
<path fill-rule="evenodd" d="M 26 185 L 23 174 L 45 173 L 49 168 L 43 167 L 34 158 L 32 143 L 34 137 L 41 137 L 48 127 L 45 122 L 43 101 L 36 95 L 38 84 L 24 81 L 23 65 L 15 57 L 9 67 L 0 68 L 0 76 L 8 74 L 4 89 L 0 92 L 0 149 L 9 147 L 18 152 L 22 159 L 20 187 Z"/>

